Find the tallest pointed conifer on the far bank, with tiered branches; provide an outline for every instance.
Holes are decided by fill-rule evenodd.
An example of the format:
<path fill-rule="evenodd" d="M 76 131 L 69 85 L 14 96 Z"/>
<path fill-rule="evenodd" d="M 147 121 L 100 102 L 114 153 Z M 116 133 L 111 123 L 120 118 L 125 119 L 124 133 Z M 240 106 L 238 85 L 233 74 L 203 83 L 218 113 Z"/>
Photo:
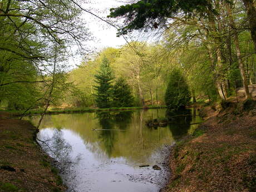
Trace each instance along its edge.
<path fill-rule="evenodd" d="M 114 75 L 110 68 L 109 60 L 106 57 L 102 59 L 100 71 L 95 75 L 95 82 L 98 84 L 95 86 L 97 91 L 96 104 L 100 108 L 111 107 L 112 99 L 112 85 L 111 81 L 114 79 Z"/>

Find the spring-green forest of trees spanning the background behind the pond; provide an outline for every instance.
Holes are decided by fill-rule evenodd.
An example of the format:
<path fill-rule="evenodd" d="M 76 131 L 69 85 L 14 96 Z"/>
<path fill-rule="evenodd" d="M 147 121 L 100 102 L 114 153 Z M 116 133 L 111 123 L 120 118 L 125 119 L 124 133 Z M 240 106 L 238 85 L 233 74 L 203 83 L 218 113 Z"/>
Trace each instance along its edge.
<path fill-rule="evenodd" d="M 1 1 L 1 109 L 164 106 L 168 86 L 184 89 L 184 83 L 169 83 L 178 78 L 194 102 L 225 101 L 238 87 L 250 99 L 255 2 L 164 2 L 139 1 L 113 8 L 108 16 L 125 18 L 118 36 L 150 31 L 159 37 L 156 42 L 127 41 L 91 53 L 83 43 L 93 34 L 79 20 L 86 10 L 76 1 Z M 70 69 L 73 45 L 85 57 Z M 107 93 L 102 86 L 109 86 Z"/>

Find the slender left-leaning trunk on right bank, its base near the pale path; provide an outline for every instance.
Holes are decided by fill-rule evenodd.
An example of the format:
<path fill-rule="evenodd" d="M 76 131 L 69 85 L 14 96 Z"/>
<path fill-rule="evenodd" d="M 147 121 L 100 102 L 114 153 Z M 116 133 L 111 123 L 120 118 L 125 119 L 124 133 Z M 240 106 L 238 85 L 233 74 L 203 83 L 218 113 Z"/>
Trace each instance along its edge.
<path fill-rule="evenodd" d="M 234 21 L 234 17 L 233 17 L 233 14 L 232 14 L 232 9 L 230 8 L 230 4 L 226 4 L 226 7 L 227 7 L 228 15 L 229 15 L 230 26 L 234 29 L 235 51 L 237 53 L 240 75 L 241 75 L 242 81 L 243 81 L 245 99 L 250 99 L 250 98 L 252 98 L 252 96 L 250 95 L 250 92 L 249 92 L 247 78 L 246 78 L 245 71 L 244 71 L 244 63 L 243 63 L 243 60 L 242 60 L 242 57 L 241 57 L 238 33 L 237 33 L 237 30 L 236 30 L 235 21 Z"/>

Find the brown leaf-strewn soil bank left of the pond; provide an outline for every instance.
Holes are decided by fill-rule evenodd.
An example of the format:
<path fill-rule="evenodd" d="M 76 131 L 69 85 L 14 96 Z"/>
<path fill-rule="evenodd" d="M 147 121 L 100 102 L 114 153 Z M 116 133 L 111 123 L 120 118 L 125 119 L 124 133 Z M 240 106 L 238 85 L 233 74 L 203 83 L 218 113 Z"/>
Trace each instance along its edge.
<path fill-rule="evenodd" d="M 30 122 L 0 112 L 0 191 L 63 191 L 50 157 L 35 141 Z"/>

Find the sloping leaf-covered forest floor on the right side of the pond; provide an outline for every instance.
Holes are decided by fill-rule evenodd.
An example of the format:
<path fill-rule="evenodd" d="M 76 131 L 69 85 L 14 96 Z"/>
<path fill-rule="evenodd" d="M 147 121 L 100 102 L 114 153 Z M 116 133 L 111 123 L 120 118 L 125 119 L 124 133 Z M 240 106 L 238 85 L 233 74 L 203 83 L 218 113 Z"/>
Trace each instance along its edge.
<path fill-rule="evenodd" d="M 204 107 L 205 122 L 173 147 L 165 192 L 256 191 L 255 101 Z"/>

